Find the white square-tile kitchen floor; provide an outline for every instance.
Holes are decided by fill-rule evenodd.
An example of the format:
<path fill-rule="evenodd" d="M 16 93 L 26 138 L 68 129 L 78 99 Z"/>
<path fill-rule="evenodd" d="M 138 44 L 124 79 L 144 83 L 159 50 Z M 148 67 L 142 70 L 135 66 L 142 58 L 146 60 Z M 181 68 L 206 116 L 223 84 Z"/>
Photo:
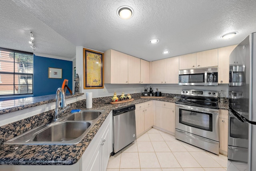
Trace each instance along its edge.
<path fill-rule="evenodd" d="M 227 162 L 223 155 L 204 151 L 152 128 L 111 156 L 107 171 L 226 171 Z"/>

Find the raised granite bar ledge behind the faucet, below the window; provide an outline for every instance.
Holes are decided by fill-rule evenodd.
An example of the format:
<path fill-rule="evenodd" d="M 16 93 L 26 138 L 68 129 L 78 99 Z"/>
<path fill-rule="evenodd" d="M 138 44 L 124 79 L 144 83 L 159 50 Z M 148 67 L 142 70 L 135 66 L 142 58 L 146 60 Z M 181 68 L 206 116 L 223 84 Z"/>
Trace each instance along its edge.
<path fill-rule="evenodd" d="M 73 95 L 66 94 L 65 98 L 68 99 L 68 98 L 76 97 L 83 94 L 84 93 L 78 93 Z M 0 115 L 26 109 L 29 107 L 43 105 L 46 103 L 51 103 L 56 101 L 55 97 L 56 97 L 56 94 L 51 94 L 51 95 L 43 95 L 38 97 L 26 97 L 21 99 L 1 101 Z"/>

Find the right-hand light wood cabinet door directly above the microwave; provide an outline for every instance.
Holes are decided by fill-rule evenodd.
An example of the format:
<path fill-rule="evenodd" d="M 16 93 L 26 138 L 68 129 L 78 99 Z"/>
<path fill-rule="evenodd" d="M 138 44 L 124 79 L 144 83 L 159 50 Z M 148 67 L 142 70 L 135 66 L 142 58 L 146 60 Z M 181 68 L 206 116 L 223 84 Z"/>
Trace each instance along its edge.
<path fill-rule="evenodd" d="M 196 68 L 218 66 L 218 49 L 196 53 Z"/>

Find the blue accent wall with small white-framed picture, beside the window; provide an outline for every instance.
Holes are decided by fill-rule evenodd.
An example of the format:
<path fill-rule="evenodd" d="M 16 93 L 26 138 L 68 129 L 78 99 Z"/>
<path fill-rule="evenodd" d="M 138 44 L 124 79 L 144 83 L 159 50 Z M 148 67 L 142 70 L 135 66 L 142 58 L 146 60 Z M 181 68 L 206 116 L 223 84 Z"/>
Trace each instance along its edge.
<path fill-rule="evenodd" d="M 61 68 L 62 79 L 48 78 L 48 68 Z M 45 58 L 34 55 L 34 97 L 55 94 L 62 86 L 64 79 L 68 80 L 68 87 L 72 90 L 72 61 Z M 68 92 L 68 89 L 66 90 Z"/>

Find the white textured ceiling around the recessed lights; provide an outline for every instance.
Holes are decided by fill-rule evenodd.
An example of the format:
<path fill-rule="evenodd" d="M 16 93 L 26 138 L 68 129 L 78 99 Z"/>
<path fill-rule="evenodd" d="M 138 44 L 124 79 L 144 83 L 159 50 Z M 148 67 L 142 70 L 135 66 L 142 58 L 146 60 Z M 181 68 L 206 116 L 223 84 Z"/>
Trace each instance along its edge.
<path fill-rule="evenodd" d="M 240 43 L 256 32 L 254 0 L 0 0 L 0 47 L 71 59 L 76 46 L 154 61 Z M 120 6 L 133 8 L 122 20 Z M 238 32 L 223 40 L 221 35 Z M 149 44 L 157 38 L 158 44 Z M 170 54 L 162 54 L 163 50 Z"/>

